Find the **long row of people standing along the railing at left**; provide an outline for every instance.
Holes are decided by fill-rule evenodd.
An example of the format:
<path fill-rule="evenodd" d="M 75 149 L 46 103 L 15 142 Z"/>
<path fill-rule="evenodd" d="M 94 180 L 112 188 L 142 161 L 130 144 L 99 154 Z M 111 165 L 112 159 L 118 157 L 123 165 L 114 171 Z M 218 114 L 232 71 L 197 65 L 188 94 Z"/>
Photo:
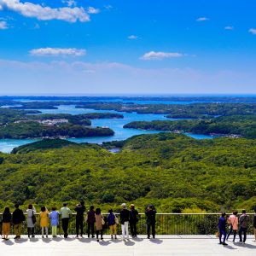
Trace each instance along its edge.
<path fill-rule="evenodd" d="M 83 236 L 84 234 L 84 215 L 85 222 L 87 223 L 87 235 L 88 237 L 95 237 L 95 228 L 96 228 L 96 240 L 99 241 L 103 239 L 103 227 L 108 224 L 111 238 L 117 239 L 117 224 L 121 224 L 122 237 L 123 239 L 129 239 L 129 224 L 131 229 L 131 236 L 137 237 L 137 222 L 139 220 L 139 214 L 135 209 L 133 204 L 130 205 L 130 210 L 126 208 L 125 203 L 121 205 L 121 211 L 119 213 L 119 218 L 113 213 L 113 209 L 108 211 L 108 218 L 104 218 L 101 209 L 94 206 L 90 206 L 90 210 L 85 212 L 84 201 L 81 201 L 75 208 L 76 212 L 76 235 L 77 237 Z M 19 239 L 22 230 L 22 223 L 26 220 L 27 222 L 27 235 L 28 237 L 35 237 L 35 224 L 37 218 L 35 217 L 36 209 L 32 204 L 28 205 L 26 210 L 26 217 L 24 212 L 20 210 L 20 206 L 15 204 L 15 211 L 11 214 L 9 207 L 5 207 L 2 218 L 2 237 L 5 240 L 9 240 L 9 233 L 11 228 L 11 223 L 14 225 L 15 230 L 15 239 Z M 148 239 L 150 238 L 150 230 L 152 230 L 152 236 L 155 237 L 155 214 L 156 211 L 154 206 L 149 205 L 146 209 L 146 219 L 147 219 L 147 233 Z M 41 207 L 41 212 L 39 212 L 40 217 L 40 227 L 42 229 L 42 237 L 44 235 L 48 237 L 49 234 L 49 223 L 52 229 L 52 236 L 57 236 L 57 227 L 59 225 L 59 220 L 61 218 L 62 230 L 64 232 L 64 237 L 67 238 L 68 233 L 68 224 L 69 220 L 72 217 L 71 210 L 67 207 L 67 203 L 63 203 L 60 211 L 56 210 L 56 207 L 52 207 L 51 212 L 47 207 Z"/>

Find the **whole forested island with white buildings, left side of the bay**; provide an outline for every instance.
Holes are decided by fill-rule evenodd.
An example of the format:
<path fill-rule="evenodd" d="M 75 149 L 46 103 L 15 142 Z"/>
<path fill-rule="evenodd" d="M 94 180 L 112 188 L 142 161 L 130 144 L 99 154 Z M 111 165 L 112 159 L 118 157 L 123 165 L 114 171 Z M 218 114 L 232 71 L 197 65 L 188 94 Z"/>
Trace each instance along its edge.
<path fill-rule="evenodd" d="M 119 113 L 37 114 L 37 111 L 0 108 L 0 138 L 107 137 L 108 127 L 91 127 L 90 119 L 123 118 Z"/>

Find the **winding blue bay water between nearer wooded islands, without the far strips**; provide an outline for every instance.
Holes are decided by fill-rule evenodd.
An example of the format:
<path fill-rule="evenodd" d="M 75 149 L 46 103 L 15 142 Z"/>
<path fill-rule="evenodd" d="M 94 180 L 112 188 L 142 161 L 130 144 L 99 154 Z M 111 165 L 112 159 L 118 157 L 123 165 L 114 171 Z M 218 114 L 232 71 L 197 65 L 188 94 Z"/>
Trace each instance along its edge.
<path fill-rule="evenodd" d="M 74 143 L 103 143 L 111 141 L 125 140 L 129 137 L 140 135 L 140 134 L 152 134 L 159 133 L 160 131 L 142 131 L 137 129 L 124 129 L 123 125 L 130 123 L 131 121 L 152 121 L 152 120 L 166 120 L 165 115 L 163 114 L 138 114 L 138 113 L 125 113 L 117 112 L 113 110 L 94 110 L 94 109 L 84 109 L 84 108 L 75 108 L 74 105 L 61 105 L 58 109 L 40 109 L 42 113 L 121 113 L 124 115 L 124 119 L 95 119 L 91 120 L 92 126 L 107 126 L 114 131 L 114 135 L 110 137 L 84 137 L 84 138 L 70 138 L 68 140 Z M 168 120 L 177 120 L 177 119 L 168 119 Z M 189 137 L 194 137 L 196 139 L 208 139 L 212 138 L 211 136 L 205 135 L 195 135 L 187 133 Z M 19 147 L 26 143 L 33 143 L 38 141 L 38 139 L 0 139 L 0 151 L 4 153 L 9 153 L 13 148 Z"/>

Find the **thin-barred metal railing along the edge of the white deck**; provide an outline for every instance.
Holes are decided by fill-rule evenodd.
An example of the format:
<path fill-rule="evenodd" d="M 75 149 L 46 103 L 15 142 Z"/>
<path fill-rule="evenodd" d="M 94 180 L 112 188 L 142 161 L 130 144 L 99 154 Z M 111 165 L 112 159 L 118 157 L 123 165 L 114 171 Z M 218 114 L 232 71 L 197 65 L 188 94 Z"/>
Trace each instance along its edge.
<path fill-rule="evenodd" d="M 0 218 L 2 219 L 2 214 L 0 213 Z M 72 218 L 70 218 L 68 232 L 69 234 L 76 233 L 76 218 L 75 213 L 73 213 Z M 105 219 L 107 219 L 108 213 L 102 213 Z M 119 218 L 119 213 L 115 213 Z M 229 214 L 227 214 L 229 215 Z M 250 224 L 247 233 L 253 234 L 253 214 L 247 214 L 250 218 Z M 35 234 L 41 234 L 39 214 L 35 214 L 37 222 L 35 224 Z M 218 231 L 218 213 L 157 213 L 156 214 L 156 224 L 155 230 L 158 235 L 212 235 Z M 239 216 L 238 216 L 239 217 Z M 85 215 L 84 215 L 85 219 Z M 107 223 L 108 224 L 108 223 Z M 22 234 L 27 234 L 26 221 L 24 221 L 22 226 Z M 145 214 L 140 213 L 137 222 L 137 233 L 141 235 L 146 234 L 146 218 Z M 227 227 L 228 229 L 228 227 Z M 104 234 L 109 234 L 108 225 L 103 229 Z M 13 234 L 13 227 L 11 230 Z M 49 234 L 51 233 L 49 225 Z M 84 234 L 87 233 L 87 224 L 84 221 Z M 63 234 L 61 229 L 61 221 L 58 227 L 58 234 Z M 121 234 L 121 225 L 118 224 L 118 234 Z"/>

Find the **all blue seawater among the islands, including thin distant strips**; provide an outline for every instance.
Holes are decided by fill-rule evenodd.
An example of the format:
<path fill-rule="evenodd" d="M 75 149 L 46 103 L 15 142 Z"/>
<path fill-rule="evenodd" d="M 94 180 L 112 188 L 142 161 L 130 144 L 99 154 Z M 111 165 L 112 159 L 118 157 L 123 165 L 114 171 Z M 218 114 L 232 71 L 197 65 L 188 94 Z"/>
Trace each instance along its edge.
<path fill-rule="evenodd" d="M 32 102 L 35 100 L 31 100 L 30 98 L 21 98 L 17 99 L 19 102 Z M 37 102 L 45 102 L 47 100 L 37 100 Z M 65 101 L 67 101 L 65 99 Z M 88 101 L 86 101 L 88 102 Z M 93 102 L 96 102 L 93 100 Z M 102 100 L 101 100 L 102 102 Z M 143 101 L 130 101 L 129 99 L 121 100 L 111 99 L 106 100 L 104 102 L 133 102 L 137 104 L 191 104 L 196 103 L 197 101 L 184 101 L 184 102 L 173 102 L 173 101 L 153 101 L 153 100 L 143 100 Z M 207 102 L 207 101 L 200 101 Z M 2 108 L 6 108 L 9 106 L 3 106 Z M 109 127 L 114 131 L 113 136 L 109 137 L 82 137 L 82 138 L 68 138 L 69 141 L 74 143 L 97 143 L 102 144 L 103 142 L 111 142 L 111 141 L 120 141 L 125 140 L 129 137 L 141 134 L 152 134 L 159 133 L 160 131 L 143 131 L 137 129 L 124 129 L 123 126 L 132 121 L 152 121 L 152 120 L 166 120 L 165 114 L 154 114 L 154 113 L 125 113 L 125 112 L 117 112 L 114 110 L 95 110 L 95 109 L 86 109 L 86 108 L 75 108 L 75 105 L 60 105 L 57 106 L 57 109 L 39 109 L 42 113 L 70 113 L 70 114 L 79 114 L 79 113 L 121 113 L 124 115 L 124 119 L 93 119 L 91 120 L 91 125 L 93 127 L 101 126 L 101 127 Z M 167 120 L 177 120 L 177 119 L 167 119 Z M 195 139 L 212 139 L 213 136 L 207 136 L 203 134 L 193 134 L 186 133 L 187 136 L 193 137 Z M 0 139 L 0 152 L 10 153 L 13 148 L 19 147 L 21 145 L 27 143 L 37 142 L 39 139 Z"/>

